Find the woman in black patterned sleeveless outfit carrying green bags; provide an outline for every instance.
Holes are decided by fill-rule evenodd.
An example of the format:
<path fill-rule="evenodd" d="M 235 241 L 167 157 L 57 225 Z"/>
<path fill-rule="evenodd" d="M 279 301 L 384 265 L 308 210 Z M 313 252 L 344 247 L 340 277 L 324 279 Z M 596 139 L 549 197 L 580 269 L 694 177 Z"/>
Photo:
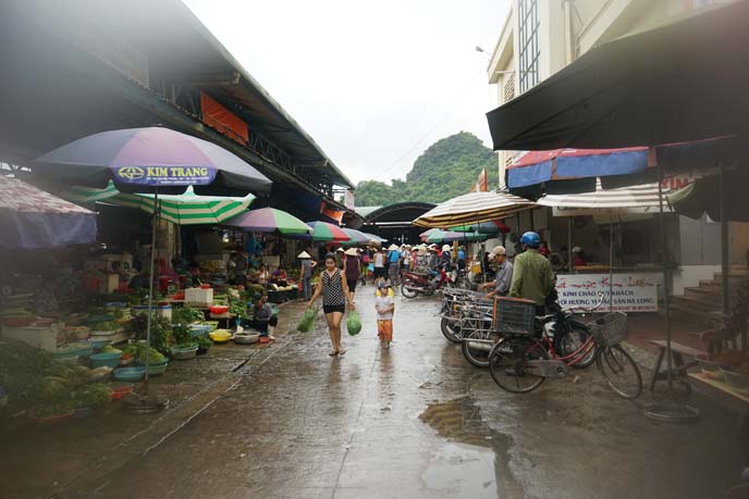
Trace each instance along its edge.
<path fill-rule="evenodd" d="M 320 295 L 322 295 L 322 311 L 328 321 L 328 328 L 330 329 L 330 342 L 333 349 L 330 351 L 330 357 L 343 357 L 346 351 L 341 348 L 341 321 L 346 311 L 346 299 L 348 305 L 354 310 L 354 297 L 348 291 L 348 283 L 346 276 L 335 266 L 335 254 L 326 254 L 326 270 L 320 274 L 320 283 L 315 289 L 315 295 L 309 300 L 308 307 L 311 308 Z"/>

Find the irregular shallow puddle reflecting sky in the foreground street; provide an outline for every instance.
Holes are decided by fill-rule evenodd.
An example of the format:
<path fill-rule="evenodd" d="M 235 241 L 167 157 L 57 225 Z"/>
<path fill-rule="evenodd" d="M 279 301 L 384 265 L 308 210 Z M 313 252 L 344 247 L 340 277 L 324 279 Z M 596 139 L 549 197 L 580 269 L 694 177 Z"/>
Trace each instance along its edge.
<path fill-rule="evenodd" d="M 512 438 L 491 429 L 470 398 L 431 403 L 419 420 L 450 440 L 421 475 L 429 488 L 471 498 L 525 497 L 508 467 Z"/>

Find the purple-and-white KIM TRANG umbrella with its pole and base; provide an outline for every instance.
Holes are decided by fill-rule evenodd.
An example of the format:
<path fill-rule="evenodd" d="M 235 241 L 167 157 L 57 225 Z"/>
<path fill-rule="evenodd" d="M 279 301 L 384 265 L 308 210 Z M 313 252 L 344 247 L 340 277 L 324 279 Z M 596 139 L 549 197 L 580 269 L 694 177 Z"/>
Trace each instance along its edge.
<path fill-rule="evenodd" d="M 113 180 L 121 191 L 181 194 L 196 186 L 198 194 L 268 192 L 271 182 L 228 150 L 169 128 L 128 128 L 102 132 L 74 140 L 34 160 L 33 171 L 66 184 L 106 188 Z M 158 196 L 154 202 L 159 205 Z M 159 210 L 154 212 L 151 249 L 156 248 Z M 150 258 L 146 345 L 150 347 L 154 310 L 154 258 Z M 147 400 L 134 406 L 163 407 L 149 396 L 150 348 L 146 349 Z"/>

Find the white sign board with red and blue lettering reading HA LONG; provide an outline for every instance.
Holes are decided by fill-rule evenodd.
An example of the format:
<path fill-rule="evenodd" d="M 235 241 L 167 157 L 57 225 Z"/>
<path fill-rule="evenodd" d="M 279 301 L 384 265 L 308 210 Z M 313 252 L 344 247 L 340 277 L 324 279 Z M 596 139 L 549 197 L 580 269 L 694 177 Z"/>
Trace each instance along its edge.
<path fill-rule="evenodd" d="M 614 274 L 614 311 L 658 312 L 658 284 L 653 273 Z M 604 295 L 599 309 L 609 311 L 609 274 L 570 274 L 556 276 L 556 291 L 563 308 L 592 308 Z"/>

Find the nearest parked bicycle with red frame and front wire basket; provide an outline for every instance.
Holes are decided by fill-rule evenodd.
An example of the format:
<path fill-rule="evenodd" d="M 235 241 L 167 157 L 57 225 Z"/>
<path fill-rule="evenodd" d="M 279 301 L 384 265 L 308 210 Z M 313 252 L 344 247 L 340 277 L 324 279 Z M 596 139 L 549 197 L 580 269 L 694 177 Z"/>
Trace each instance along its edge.
<path fill-rule="evenodd" d="M 613 312 L 587 324 L 590 335 L 585 342 L 575 351 L 560 355 L 547 327 L 543 327 L 554 314 L 533 317 L 533 325 L 529 325 L 528 316 L 535 305 L 514 303 L 514 307 L 518 310 L 525 308 L 520 311 L 524 315 L 518 319 L 517 313 L 511 313 L 503 317 L 505 324 L 501 327 L 507 330 L 489 354 L 489 371 L 502 389 L 528 394 L 541 386 L 545 378 L 564 377 L 569 367 L 579 366 L 592 358 L 609 387 L 617 395 L 634 400 L 642 392 L 640 370 L 619 345 L 627 338 L 626 314 Z M 538 332 L 536 320 L 542 324 L 539 338 L 535 337 Z"/>

